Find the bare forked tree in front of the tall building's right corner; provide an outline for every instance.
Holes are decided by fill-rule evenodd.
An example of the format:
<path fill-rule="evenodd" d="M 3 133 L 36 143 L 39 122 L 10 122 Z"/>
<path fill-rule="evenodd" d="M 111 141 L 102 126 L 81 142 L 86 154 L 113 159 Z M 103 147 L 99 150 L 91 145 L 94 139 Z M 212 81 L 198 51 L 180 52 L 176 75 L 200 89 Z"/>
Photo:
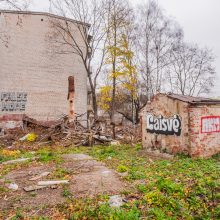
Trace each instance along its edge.
<path fill-rule="evenodd" d="M 96 88 L 104 63 L 106 44 L 103 2 L 99 0 L 54 0 L 52 3 L 54 12 L 66 18 L 65 22 L 52 21 L 53 28 L 59 35 L 59 41 L 56 41 L 61 46 L 59 52 L 74 53 L 82 60 L 91 88 L 96 119 L 98 114 Z M 76 28 L 83 39 L 84 47 L 76 40 L 75 31 L 70 27 L 67 17 L 80 22 Z"/>

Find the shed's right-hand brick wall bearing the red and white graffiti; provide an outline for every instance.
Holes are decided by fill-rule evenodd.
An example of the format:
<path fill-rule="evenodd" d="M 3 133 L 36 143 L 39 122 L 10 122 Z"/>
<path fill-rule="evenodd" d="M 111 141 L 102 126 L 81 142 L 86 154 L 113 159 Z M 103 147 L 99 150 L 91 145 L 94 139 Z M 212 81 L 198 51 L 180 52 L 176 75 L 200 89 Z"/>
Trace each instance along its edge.
<path fill-rule="evenodd" d="M 207 121 L 202 123 L 202 119 Z M 190 107 L 190 142 L 192 157 L 209 157 L 220 152 L 220 105 Z"/>

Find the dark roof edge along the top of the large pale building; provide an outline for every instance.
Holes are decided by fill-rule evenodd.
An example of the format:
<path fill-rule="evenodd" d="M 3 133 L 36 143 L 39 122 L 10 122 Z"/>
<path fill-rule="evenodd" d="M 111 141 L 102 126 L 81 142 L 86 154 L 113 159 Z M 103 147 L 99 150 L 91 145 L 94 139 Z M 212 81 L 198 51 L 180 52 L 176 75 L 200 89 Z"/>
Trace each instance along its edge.
<path fill-rule="evenodd" d="M 42 15 L 42 16 L 48 16 L 48 17 L 51 17 L 51 18 L 57 18 L 57 19 L 69 21 L 69 22 L 72 22 L 72 23 L 86 25 L 88 28 L 90 27 L 90 24 L 88 24 L 88 23 L 85 23 L 85 22 L 82 22 L 82 21 L 77 21 L 77 20 L 74 20 L 74 19 L 71 19 L 71 18 L 60 16 L 60 15 L 51 14 L 49 12 L 18 11 L 18 10 L 3 10 L 3 9 L 0 9 L 0 13 L 24 14 L 24 15 Z"/>

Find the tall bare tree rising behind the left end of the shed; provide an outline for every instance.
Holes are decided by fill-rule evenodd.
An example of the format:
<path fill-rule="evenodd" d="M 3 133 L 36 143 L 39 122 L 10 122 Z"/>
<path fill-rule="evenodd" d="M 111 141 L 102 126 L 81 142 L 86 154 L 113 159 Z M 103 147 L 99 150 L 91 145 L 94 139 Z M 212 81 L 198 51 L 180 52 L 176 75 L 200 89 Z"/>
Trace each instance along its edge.
<path fill-rule="evenodd" d="M 173 20 L 163 14 L 155 1 L 140 5 L 138 11 L 139 71 L 149 97 L 162 90 L 164 70 L 170 65 L 171 49 L 183 33 Z"/>

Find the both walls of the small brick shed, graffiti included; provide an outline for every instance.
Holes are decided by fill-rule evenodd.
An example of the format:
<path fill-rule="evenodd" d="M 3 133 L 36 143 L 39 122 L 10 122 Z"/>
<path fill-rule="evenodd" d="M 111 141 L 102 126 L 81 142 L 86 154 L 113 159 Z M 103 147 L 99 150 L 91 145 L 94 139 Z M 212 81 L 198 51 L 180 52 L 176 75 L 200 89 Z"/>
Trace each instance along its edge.
<path fill-rule="evenodd" d="M 220 100 L 206 100 L 209 104 L 187 101 L 187 98 L 183 100 L 186 101 L 158 94 L 146 105 L 142 111 L 143 147 L 172 154 L 186 153 L 192 157 L 210 157 L 219 153 Z M 154 123 L 161 116 L 174 122 L 175 115 L 180 118 L 181 133 L 166 131 L 167 125 L 164 127 L 162 122 L 161 128 Z"/>

